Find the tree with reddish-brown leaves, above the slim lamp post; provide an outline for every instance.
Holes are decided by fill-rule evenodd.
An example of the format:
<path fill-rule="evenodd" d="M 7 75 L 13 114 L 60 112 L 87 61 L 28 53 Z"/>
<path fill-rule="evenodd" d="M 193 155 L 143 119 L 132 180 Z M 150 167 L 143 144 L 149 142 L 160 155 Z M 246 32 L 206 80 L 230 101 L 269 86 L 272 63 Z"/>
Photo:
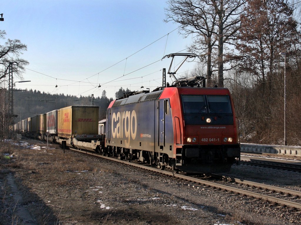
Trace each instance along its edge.
<path fill-rule="evenodd" d="M 284 0 L 280 0 L 279 4 L 249 0 L 246 11 L 247 15 L 241 17 L 242 26 L 237 42 L 240 55 L 237 61 L 243 71 L 256 75 L 263 85 L 268 81 L 271 89 L 273 69 L 277 65 L 279 52 L 290 52 L 292 47 L 298 48 L 298 23 L 293 19 L 293 10 Z"/>

